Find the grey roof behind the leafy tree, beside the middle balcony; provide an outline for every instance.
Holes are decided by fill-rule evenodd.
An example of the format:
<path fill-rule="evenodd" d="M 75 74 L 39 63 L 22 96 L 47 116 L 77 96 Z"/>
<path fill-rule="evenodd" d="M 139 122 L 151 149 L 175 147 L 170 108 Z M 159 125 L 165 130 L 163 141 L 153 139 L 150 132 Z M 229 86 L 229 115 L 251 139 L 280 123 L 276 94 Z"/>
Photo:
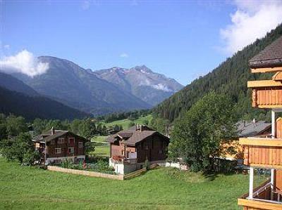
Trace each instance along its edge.
<path fill-rule="evenodd" d="M 264 131 L 267 131 L 268 129 L 271 128 L 271 123 L 265 122 L 265 121 L 258 121 L 255 122 L 244 122 L 240 121 L 237 124 L 238 126 L 238 136 L 239 137 L 250 137 L 250 136 L 257 136 Z"/>

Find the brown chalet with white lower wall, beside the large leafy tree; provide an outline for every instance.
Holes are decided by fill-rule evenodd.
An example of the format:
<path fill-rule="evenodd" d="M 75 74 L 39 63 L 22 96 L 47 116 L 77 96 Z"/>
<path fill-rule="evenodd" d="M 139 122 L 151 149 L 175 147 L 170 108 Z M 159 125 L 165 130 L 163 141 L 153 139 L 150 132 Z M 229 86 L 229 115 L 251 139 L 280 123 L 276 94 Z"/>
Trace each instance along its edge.
<path fill-rule="evenodd" d="M 136 125 L 106 139 L 111 145 L 109 164 L 116 173 L 129 173 L 145 167 L 145 162 L 165 162 L 169 138 L 148 126 Z"/>

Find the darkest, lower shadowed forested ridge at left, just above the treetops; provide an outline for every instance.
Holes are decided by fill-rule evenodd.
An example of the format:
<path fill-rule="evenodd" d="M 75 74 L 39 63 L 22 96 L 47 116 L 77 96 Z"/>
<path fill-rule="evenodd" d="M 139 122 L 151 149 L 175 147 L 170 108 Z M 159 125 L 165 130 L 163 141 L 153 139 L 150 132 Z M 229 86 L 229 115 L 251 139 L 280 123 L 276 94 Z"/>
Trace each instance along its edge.
<path fill-rule="evenodd" d="M 0 86 L 0 113 L 16 114 L 27 120 L 42 119 L 75 119 L 90 116 L 71 107 L 43 96 L 27 96 L 10 91 Z"/>

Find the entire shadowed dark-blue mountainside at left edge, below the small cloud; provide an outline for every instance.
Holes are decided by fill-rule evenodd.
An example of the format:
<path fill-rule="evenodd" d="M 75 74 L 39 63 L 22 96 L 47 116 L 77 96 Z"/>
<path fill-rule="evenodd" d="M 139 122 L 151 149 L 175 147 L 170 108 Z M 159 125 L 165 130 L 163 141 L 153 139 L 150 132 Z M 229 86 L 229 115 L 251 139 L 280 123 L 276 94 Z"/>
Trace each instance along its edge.
<path fill-rule="evenodd" d="M 0 72 L 0 113 L 16 114 L 27 120 L 42 119 L 75 119 L 90 117 L 59 103 L 56 100 L 41 96 L 15 77 Z"/>

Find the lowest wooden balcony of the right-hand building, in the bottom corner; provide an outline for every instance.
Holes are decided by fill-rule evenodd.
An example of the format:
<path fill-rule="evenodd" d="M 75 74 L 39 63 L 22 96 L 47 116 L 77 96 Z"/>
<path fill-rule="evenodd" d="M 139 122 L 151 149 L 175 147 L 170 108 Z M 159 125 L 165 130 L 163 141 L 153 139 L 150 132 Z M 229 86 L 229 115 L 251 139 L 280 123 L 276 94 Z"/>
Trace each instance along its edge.
<path fill-rule="evenodd" d="M 274 198 L 271 200 L 271 184 L 266 181 L 259 187 L 254 189 L 254 194 L 252 199 L 248 199 L 249 194 L 241 196 L 238 199 L 238 205 L 243 206 L 244 210 L 281 210 L 282 202 L 279 200 L 278 195 L 275 194 Z"/>

